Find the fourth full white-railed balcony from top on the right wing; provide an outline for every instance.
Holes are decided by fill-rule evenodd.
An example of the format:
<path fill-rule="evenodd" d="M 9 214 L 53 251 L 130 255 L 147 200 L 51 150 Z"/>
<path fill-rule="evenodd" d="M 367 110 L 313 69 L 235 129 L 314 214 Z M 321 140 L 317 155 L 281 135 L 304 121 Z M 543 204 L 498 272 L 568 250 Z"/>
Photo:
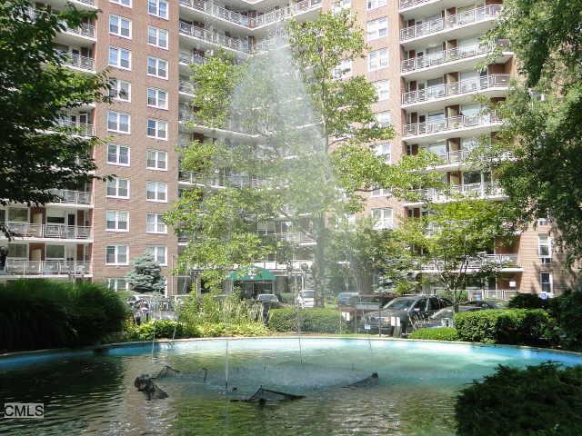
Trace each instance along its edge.
<path fill-rule="evenodd" d="M 475 114 L 449 116 L 424 123 L 405 124 L 402 135 L 406 141 L 418 143 L 446 139 L 453 135 L 459 137 L 478 136 L 494 130 L 501 124 L 497 114 Z"/>

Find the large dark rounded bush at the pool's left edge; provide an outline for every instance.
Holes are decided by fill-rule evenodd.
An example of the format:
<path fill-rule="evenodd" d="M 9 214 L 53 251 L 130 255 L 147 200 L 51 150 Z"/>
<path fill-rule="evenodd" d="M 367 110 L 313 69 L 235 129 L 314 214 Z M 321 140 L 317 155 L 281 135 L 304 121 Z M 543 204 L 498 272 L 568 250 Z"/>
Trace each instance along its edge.
<path fill-rule="evenodd" d="M 128 308 L 90 282 L 19 280 L 0 285 L 0 350 L 74 347 L 121 332 Z"/>

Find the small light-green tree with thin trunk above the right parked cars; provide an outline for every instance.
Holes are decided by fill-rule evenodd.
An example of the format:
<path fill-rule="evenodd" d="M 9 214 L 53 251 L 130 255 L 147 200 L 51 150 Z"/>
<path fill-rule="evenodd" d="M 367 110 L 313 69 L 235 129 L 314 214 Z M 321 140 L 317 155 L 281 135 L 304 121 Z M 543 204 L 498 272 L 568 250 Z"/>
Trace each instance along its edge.
<path fill-rule="evenodd" d="M 472 198 L 426 204 L 426 214 L 404 220 L 397 229 L 416 270 L 436 275 L 453 296 L 456 310 L 470 278 L 486 280 L 506 266 L 487 255 L 495 243 L 511 241 L 503 208 L 501 203 Z"/>

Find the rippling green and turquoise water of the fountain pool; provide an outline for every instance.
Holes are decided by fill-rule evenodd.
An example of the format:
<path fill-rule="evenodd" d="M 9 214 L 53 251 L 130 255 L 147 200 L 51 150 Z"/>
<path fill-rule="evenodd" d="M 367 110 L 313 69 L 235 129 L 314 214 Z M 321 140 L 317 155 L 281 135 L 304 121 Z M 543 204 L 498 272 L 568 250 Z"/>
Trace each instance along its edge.
<path fill-rule="evenodd" d="M 453 435 L 459 389 L 498 364 L 582 357 L 443 342 L 295 338 L 190 341 L 0 359 L 0 399 L 44 402 L 44 420 L 2 420 L 15 435 Z M 135 377 L 164 365 L 169 397 L 147 401 Z M 203 368 L 206 368 L 204 370 Z M 345 386 L 377 372 L 377 385 Z M 206 374 L 206 381 L 205 381 Z M 259 386 L 306 395 L 258 406 Z M 232 389 L 236 387 L 236 391 Z"/>

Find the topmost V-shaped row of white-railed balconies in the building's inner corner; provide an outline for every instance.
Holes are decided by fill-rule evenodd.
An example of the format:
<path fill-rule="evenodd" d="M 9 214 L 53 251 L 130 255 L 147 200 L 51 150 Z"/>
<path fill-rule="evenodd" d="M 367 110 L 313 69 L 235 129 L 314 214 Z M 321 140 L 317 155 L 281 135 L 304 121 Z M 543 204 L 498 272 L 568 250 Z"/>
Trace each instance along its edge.
<path fill-rule="evenodd" d="M 231 11 L 225 7 L 215 5 L 212 1 L 204 0 L 180 0 L 180 5 L 185 5 L 192 9 L 202 11 L 221 20 L 242 25 L 249 29 L 254 29 L 262 25 L 269 25 L 277 21 L 285 20 L 293 15 L 301 14 L 318 7 L 321 7 L 322 0 L 302 0 L 291 3 L 279 9 L 274 9 L 263 15 L 247 16 L 236 11 Z"/>

